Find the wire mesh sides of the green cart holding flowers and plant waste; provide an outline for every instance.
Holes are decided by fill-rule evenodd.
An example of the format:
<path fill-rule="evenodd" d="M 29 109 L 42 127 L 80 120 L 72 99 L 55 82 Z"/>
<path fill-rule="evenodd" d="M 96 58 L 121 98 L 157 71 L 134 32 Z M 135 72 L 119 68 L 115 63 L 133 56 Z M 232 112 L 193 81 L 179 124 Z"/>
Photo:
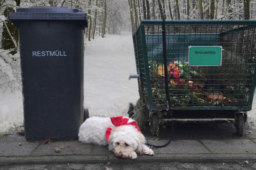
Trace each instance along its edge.
<path fill-rule="evenodd" d="M 255 80 L 253 83 L 256 23 L 249 26 L 225 21 L 216 24 L 180 23 L 166 22 L 172 104 L 247 106 L 252 103 L 256 83 Z M 190 65 L 189 46 L 199 46 L 198 53 L 204 52 L 201 46 L 221 46 L 221 65 Z M 145 98 L 150 105 L 166 105 L 161 22 L 142 22 L 134 34 L 134 49 Z"/>

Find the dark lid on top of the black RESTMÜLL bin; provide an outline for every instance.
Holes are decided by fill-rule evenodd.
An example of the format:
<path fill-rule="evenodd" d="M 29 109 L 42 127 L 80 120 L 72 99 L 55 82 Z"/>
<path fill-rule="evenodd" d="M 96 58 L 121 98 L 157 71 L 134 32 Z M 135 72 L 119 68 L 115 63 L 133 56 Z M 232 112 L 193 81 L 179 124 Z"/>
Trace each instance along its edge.
<path fill-rule="evenodd" d="M 87 14 L 79 8 L 31 7 L 17 8 L 8 13 L 9 20 L 87 20 Z"/>

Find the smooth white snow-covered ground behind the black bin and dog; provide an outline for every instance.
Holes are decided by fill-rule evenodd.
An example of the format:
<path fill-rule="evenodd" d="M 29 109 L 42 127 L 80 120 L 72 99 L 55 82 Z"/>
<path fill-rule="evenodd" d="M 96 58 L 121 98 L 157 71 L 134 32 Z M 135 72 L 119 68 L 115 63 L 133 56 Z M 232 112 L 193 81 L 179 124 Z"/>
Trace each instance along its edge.
<path fill-rule="evenodd" d="M 139 99 L 131 32 L 85 40 L 84 107 L 90 116 L 126 115 L 128 103 Z M 0 133 L 23 123 L 22 92 L 0 93 Z"/>

